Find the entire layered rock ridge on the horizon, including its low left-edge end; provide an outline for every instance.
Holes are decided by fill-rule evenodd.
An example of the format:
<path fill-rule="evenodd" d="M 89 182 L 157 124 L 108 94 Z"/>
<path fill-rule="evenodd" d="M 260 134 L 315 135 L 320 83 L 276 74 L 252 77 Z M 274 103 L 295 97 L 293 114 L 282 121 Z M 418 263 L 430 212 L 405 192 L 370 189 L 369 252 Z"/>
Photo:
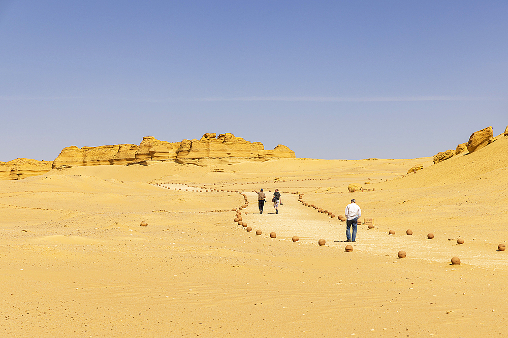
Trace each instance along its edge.
<path fill-rule="evenodd" d="M 139 145 L 115 144 L 96 147 L 69 146 L 62 149 L 54 161 L 15 159 L 0 162 L 0 179 L 21 179 L 42 175 L 51 169 L 69 166 L 148 165 L 157 161 L 175 161 L 180 164 L 209 165 L 207 159 L 270 159 L 295 158 L 295 152 L 279 144 L 265 150 L 261 142 L 249 142 L 226 133 L 216 136 L 207 133 L 200 140 L 167 142 L 145 136 Z"/>

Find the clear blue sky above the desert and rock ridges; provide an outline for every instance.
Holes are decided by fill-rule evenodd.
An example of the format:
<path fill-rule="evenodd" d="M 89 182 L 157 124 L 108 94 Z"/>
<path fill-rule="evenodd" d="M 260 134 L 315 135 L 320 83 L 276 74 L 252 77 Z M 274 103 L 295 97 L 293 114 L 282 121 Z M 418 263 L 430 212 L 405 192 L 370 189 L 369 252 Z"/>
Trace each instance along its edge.
<path fill-rule="evenodd" d="M 508 125 L 508 2 L 0 0 L 0 161 L 233 133 L 417 158 Z"/>

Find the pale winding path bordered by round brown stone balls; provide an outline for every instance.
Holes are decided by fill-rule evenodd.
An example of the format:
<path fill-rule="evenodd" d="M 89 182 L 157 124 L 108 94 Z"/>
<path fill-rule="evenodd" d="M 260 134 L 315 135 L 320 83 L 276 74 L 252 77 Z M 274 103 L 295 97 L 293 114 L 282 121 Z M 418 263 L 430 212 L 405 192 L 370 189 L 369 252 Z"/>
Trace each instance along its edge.
<path fill-rule="evenodd" d="M 233 190 L 226 190 L 223 187 L 205 189 L 204 186 L 188 186 L 185 184 L 160 184 L 170 190 L 182 190 L 192 193 L 235 193 Z M 210 186 L 208 184 L 208 186 Z M 270 237 L 271 232 L 275 232 L 277 237 L 273 241 L 283 240 L 292 241 L 293 236 L 299 237 L 299 242 L 309 245 L 317 244 L 319 239 L 325 239 L 326 245 L 336 247 L 337 250 L 343 251 L 346 244 L 353 245 L 354 252 L 364 252 L 375 255 L 387 256 L 387 263 L 397 262 L 397 252 L 404 250 L 407 257 L 403 259 L 422 259 L 427 262 L 437 262 L 439 264 L 448 265 L 450 259 L 454 256 L 460 258 L 462 268 L 464 265 L 481 267 L 481 268 L 502 268 L 508 266 L 508 254 L 506 251 L 497 251 L 499 243 L 484 243 L 482 248 L 472 248 L 468 243 L 472 239 L 465 239 L 465 243 L 457 245 L 456 240 L 449 241 L 446 235 L 434 233 L 433 239 L 427 239 L 427 233 L 413 235 L 395 234 L 389 235 L 388 230 L 380 231 L 377 227 L 368 229 L 364 224 L 358 226 L 357 241 L 354 243 L 345 242 L 346 222 L 340 221 L 338 215 L 331 218 L 329 215 L 319 213 L 312 207 L 304 206 L 298 201 L 298 194 L 290 194 L 288 192 L 281 193 L 282 206 L 279 205 L 279 213 L 275 214 L 273 208 L 272 193 L 265 192 L 267 195 L 264 205 L 263 214 L 259 214 L 258 210 L 258 194 L 254 192 L 236 191 L 238 194 L 244 194 L 249 201 L 247 208 L 239 210 L 242 215 L 242 221 L 247 222 L 252 228 L 250 234 L 257 236 L 256 231 L 261 230 L 262 235 Z M 240 195 L 242 198 L 243 196 Z M 302 197 L 305 199 L 305 197 Z M 240 201 L 240 200 L 239 200 Z M 240 205 L 232 206 L 239 209 Z M 345 206 L 337 206 L 337 210 L 342 210 Z M 234 224 L 235 211 L 231 211 L 231 223 Z M 363 218 L 363 217 L 362 217 Z M 245 227 L 236 225 L 239 231 L 245 231 Z M 474 241 L 481 241 L 475 239 Z"/>

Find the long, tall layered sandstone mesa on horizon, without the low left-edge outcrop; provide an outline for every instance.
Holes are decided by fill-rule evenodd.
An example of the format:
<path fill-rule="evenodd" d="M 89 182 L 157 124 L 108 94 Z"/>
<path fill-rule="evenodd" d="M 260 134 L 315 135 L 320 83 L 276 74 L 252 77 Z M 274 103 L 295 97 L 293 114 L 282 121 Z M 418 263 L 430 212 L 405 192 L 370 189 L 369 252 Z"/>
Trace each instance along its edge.
<path fill-rule="evenodd" d="M 97 147 L 70 146 L 63 148 L 55 159 L 53 168 L 67 165 L 94 166 L 144 163 L 147 161 L 223 158 L 295 158 L 295 152 L 285 145 L 265 150 L 261 142 L 249 142 L 233 134 L 207 133 L 200 140 L 166 142 L 153 136 L 143 137 L 140 145 L 118 144 Z"/>

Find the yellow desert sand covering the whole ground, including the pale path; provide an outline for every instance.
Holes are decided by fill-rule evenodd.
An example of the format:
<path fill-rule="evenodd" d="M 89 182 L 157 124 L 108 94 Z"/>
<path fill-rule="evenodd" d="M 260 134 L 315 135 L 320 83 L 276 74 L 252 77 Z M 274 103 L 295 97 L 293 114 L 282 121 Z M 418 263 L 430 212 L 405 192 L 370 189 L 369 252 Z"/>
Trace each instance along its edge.
<path fill-rule="evenodd" d="M 504 336 L 506 149 L 508 138 L 437 165 L 165 162 L 0 181 L 0 336 Z M 375 191 L 348 193 L 349 183 Z M 233 222 L 235 190 L 252 232 Z M 359 226 L 345 252 L 345 223 L 297 191 L 336 214 L 356 198 L 375 228 Z"/>

